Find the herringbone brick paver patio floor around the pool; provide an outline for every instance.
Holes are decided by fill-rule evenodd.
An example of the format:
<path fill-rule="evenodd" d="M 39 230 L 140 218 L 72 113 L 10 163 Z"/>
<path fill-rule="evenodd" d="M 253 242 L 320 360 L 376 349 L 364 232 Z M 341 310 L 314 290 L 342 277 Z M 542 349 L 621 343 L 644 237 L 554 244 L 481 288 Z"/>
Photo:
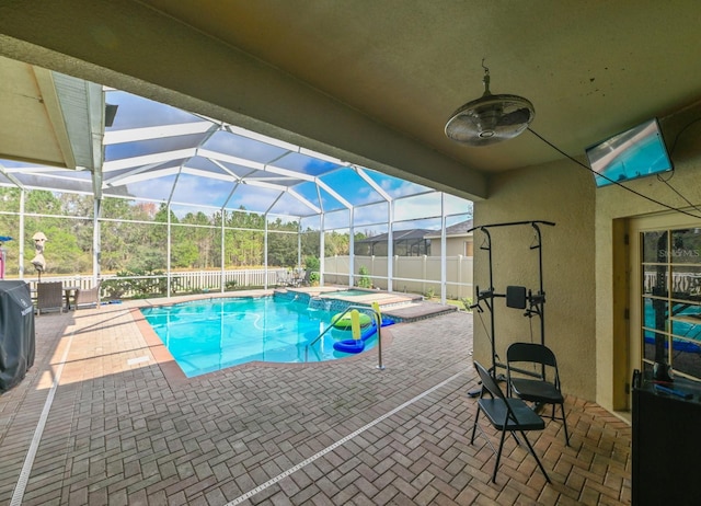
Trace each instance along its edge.
<path fill-rule="evenodd" d="M 572 396 L 572 446 L 556 422 L 531 437 L 553 483 L 513 438 L 490 482 L 470 314 L 388 327 L 384 370 L 371 350 L 176 379 L 140 303 L 36 319 L 0 396 L 1 504 L 630 504 L 630 426 Z"/>

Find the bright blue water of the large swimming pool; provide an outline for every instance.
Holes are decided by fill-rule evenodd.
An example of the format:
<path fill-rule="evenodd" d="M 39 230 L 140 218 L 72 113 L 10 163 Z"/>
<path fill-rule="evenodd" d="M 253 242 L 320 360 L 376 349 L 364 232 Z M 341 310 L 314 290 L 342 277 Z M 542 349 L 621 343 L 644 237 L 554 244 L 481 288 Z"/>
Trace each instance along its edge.
<path fill-rule="evenodd" d="M 303 363 L 349 356 L 336 352 L 349 332 L 333 330 L 306 348 L 331 322 L 333 312 L 296 301 L 221 298 L 141 310 L 185 376 L 212 372 L 249 361 Z M 375 347 L 377 334 L 366 342 Z"/>

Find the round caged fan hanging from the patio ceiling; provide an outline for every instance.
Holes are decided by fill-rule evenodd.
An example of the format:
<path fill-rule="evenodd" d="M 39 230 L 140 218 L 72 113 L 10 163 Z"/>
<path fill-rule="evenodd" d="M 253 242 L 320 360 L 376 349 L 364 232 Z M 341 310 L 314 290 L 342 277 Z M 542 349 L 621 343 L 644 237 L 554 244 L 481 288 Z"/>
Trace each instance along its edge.
<path fill-rule="evenodd" d="M 533 105 L 522 96 L 493 95 L 490 69 L 484 66 L 484 94 L 458 108 L 446 123 L 446 136 L 469 146 L 489 146 L 513 139 L 533 120 Z"/>

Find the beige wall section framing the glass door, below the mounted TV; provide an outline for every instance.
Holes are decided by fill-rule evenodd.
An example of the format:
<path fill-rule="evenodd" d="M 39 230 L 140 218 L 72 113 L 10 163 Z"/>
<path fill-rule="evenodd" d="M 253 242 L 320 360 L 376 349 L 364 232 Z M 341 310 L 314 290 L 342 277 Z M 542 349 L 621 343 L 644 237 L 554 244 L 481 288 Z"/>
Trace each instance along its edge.
<path fill-rule="evenodd" d="M 701 106 L 696 105 L 674 118 L 660 122 L 667 146 L 676 146 L 671 152 L 675 172 L 669 184 L 697 206 L 701 204 L 701 148 L 693 145 L 701 133 L 701 125 L 692 122 L 698 119 L 700 114 Z M 687 126 L 690 127 L 685 129 Z M 668 175 L 665 175 L 666 177 Z M 689 208 L 683 198 L 656 177 L 631 181 L 628 186 L 673 207 Z M 701 216 L 700 211 L 690 210 Z M 627 326 L 621 322 L 622 312 L 633 302 L 630 300 L 627 286 L 627 273 L 621 272 L 631 267 L 627 262 L 630 252 L 622 245 L 621 235 L 627 233 L 625 223 L 629 218 L 665 214 L 679 215 L 618 186 L 596 191 L 596 400 L 609 410 L 627 409 L 625 383 L 630 382 L 630 370 L 640 368 L 640 364 L 631 364 L 628 359 L 629 335 L 625 332 Z M 701 219 L 698 222 L 701 222 Z M 612 258 L 617 258 L 616 264 Z M 618 300 L 622 294 L 625 294 L 624 301 Z M 636 322 L 631 321 L 631 325 L 634 324 Z M 621 357 L 621 354 L 625 356 Z"/>

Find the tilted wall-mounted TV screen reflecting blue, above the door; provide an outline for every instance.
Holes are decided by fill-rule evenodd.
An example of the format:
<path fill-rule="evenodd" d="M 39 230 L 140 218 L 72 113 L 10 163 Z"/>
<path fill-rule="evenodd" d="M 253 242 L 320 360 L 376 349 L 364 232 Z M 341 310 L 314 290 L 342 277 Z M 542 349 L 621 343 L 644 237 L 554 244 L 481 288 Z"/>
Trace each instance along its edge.
<path fill-rule="evenodd" d="M 674 169 L 657 118 L 586 148 L 597 187 Z"/>

